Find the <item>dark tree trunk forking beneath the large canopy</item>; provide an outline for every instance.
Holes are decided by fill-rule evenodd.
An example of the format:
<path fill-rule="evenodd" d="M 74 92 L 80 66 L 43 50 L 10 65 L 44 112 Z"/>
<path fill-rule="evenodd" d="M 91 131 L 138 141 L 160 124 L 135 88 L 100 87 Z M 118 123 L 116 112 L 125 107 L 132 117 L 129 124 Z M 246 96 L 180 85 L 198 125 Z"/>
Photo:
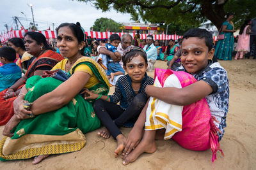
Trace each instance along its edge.
<path fill-rule="evenodd" d="M 214 24 L 218 30 L 220 31 L 221 25 L 225 21 L 225 11 L 224 4 L 211 4 L 211 1 L 201 1 L 201 13 L 207 19 L 211 20 L 212 24 Z"/>

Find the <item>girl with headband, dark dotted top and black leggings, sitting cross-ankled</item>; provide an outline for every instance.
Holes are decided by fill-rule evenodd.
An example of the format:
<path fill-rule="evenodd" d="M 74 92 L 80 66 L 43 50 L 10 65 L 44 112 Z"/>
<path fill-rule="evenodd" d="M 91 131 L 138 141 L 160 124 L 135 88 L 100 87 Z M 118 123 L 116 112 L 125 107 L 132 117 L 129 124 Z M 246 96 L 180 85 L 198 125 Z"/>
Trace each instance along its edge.
<path fill-rule="evenodd" d="M 87 91 L 84 99 L 98 99 L 93 104 L 97 117 L 106 127 L 98 134 L 109 138 L 109 133 L 117 140 L 115 156 L 124 150 L 125 136 L 118 129 L 128 120 L 135 122 L 147 102 L 145 87 L 154 83 L 153 78 L 147 76 L 147 54 L 142 48 L 129 46 L 122 57 L 124 69 L 128 73 L 116 82 L 112 96 L 101 96 Z M 120 101 L 120 105 L 116 104 Z"/>

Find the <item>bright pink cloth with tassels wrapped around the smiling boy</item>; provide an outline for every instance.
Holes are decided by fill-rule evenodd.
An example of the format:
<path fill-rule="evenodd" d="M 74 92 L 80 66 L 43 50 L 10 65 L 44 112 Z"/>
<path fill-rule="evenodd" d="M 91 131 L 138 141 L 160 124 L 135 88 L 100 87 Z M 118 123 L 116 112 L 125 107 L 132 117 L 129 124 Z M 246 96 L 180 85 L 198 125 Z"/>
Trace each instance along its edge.
<path fill-rule="evenodd" d="M 163 86 L 164 81 L 171 74 L 175 74 L 183 87 L 195 83 L 197 80 L 189 73 L 183 71 L 172 71 L 170 69 L 155 69 L 155 78 Z M 212 150 L 212 162 L 216 159 L 216 152 L 220 149 L 217 127 L 211 117 L 206 99 L 200 99 L 195 103 L 184 106 L 182 110 L 182 131 L 172 137 L 180 146 L 189 150 Z"/>

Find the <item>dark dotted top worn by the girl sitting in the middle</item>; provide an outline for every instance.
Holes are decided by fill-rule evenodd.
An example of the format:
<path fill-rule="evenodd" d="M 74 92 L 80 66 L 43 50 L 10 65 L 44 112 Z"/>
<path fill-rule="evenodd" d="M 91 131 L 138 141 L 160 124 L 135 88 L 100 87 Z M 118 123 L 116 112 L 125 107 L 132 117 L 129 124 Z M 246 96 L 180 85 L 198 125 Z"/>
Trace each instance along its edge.
<path fill-rule="evenodd" d="M 132 89 L 131 82 L 132 82 L 131 78 L 128 74 L 125 76 L 121 76 L 116 81 L 114 94 L 109 96 L 110 101 L 113 103 L 118 103 L 120 101 L 120 107 L 124 110 L 128 108 L 133 98 L 137 95 Z M 154 84 L 154 79 L 147 76 L 147 73 L 145 73 L 145 77 L 141 81 L 140 90 L 138 91 L 138 94 L 141 93 L 147 97 L 145 88 L 147 87 L 147 85 L 153 85 L 153 84 Z"/>

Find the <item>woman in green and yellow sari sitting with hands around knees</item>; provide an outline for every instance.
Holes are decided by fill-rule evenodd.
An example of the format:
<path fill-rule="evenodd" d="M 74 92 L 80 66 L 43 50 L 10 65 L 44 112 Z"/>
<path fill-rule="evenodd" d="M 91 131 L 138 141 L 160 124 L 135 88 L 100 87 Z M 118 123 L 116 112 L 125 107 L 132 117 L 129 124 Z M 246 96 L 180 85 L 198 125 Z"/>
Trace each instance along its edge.
<path fill-rule="evenodd" d="M 38 156 L 33 160 L 37 164 L 49 154 L 78 151 L 86 143 L 83 133 L 100 127 L 92 101 L 78 94 L 86 88 L 107 95 L 108 78 L 97 62 L 83 56 L 84 33 L 76 24 L 61 24 L 57 34 L 57 46 L 67 59 L 52 70 L 61 69 L 69 78 L 64 82 L 41 76 L 27 80 L 14 101 L 15 115 L 3 131 L 10 138 L 1 141 L 1 160 Z M 25 101 L 28 103 L 24 105 Z"/>

